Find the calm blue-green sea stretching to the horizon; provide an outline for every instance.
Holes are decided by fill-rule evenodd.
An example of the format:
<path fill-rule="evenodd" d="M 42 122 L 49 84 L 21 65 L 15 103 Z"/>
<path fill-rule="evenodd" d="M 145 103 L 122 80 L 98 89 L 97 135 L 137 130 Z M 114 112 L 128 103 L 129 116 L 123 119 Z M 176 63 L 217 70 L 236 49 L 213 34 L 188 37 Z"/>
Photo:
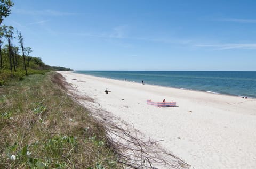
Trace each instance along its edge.
<path fill-rule="evenodd" d="M 256 98 L 256 72 L 76 71 L 118 80 Z"/>

